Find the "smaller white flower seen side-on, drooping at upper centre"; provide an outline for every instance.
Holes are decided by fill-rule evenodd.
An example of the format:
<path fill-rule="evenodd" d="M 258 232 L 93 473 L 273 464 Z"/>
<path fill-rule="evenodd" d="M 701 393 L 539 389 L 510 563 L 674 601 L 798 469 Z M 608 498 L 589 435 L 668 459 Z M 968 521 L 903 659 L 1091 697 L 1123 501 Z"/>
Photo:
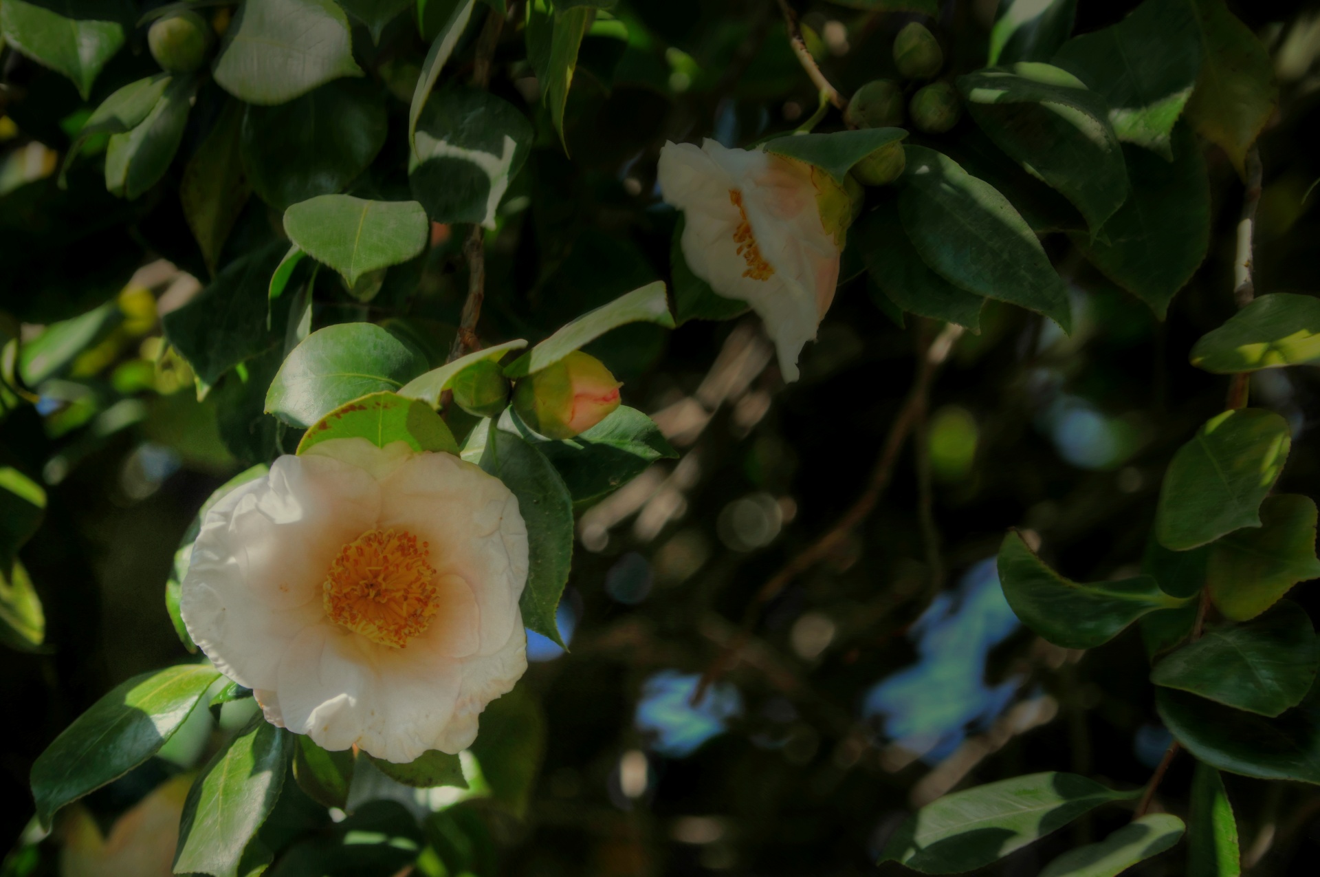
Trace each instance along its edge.
<path fill-rule="evenodd" d="M 682 255 L 692 272 L 766 321 L 779 367 L 797 379 L 803 345 L 816 338 L 838 283 L 847 197 L 810 165 L 762 149 L 667 143 L 660 192 L 684 211 Z M 841 222 L 820 203 L 842 199 Z M 828 227 L 830 226 L 830 227 Z"/>

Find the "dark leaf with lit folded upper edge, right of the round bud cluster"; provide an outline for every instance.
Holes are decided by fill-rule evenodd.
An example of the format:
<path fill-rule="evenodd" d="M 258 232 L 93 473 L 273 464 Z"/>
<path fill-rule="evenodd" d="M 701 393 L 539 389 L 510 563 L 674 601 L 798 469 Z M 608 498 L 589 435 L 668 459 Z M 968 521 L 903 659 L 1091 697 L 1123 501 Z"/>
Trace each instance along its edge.
<path fill-rule="evenodd" d="M 995 144 L 1081 211 L 1092 236 L 1127 198 L 1105 100 L 1044 63 L 958 77 L 968 112 Z"/>

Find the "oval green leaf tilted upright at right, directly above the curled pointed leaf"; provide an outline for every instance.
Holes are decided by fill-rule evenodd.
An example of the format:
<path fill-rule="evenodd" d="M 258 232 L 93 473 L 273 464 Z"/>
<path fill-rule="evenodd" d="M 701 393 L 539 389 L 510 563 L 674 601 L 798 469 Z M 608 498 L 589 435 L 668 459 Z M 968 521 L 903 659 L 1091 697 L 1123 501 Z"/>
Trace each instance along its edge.
<path fill-rule="evenodd" d="M 1292 444 L 1288 423 L 1262 408 L 1225 411 L 1177 449 L 1164 473 L 1155 536 L 1187 551 L 1241 527 L 1261 526 L 1261 501 Z"/>

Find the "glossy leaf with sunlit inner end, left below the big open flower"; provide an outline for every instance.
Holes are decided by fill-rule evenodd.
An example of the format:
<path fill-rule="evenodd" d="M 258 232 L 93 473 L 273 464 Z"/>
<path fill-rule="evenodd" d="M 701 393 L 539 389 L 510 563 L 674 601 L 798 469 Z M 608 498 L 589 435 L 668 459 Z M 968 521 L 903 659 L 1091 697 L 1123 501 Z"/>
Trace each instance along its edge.
<path fill-rule="evenodd" d="M 41 824 L 154 755 L 219 675 L 210 664 L 182 664 L 133 676 L 75 719 L 32 765 Z"/>

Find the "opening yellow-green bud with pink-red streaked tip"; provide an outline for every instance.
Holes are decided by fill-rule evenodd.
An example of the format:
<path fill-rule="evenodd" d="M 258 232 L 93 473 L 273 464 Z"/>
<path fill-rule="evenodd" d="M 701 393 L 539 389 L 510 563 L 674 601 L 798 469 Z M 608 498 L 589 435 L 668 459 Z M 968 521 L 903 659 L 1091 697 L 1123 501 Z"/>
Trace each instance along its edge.
<path fill-rule="evenodd" d="M 619 407 L 622 386 L 603 362 L 574 350 L 553 366 L 519 380 L 513 388 L 513 411 L 543 436 L 572 438 Z"/>

